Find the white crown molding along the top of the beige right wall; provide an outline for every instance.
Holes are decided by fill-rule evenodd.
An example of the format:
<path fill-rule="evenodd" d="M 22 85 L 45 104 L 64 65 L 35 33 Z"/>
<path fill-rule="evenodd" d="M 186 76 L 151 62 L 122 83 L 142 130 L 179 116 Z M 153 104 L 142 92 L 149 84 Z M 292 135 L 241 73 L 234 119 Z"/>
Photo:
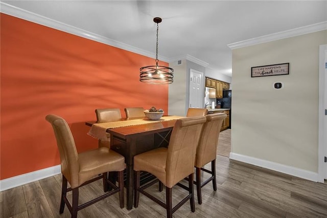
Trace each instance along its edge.
<path fill-rule="evenodd" d="M 286 30 L 282 32 L 277 32 L 269 35 L 264 35 L 256 38 L 251 38 L 247 39 L 244 41 L 239 41 L 235 43 L 230 43 L 227 46 L 233 50 L 233 49 L 239 49 L 247 46 L 253 46 L 257 45 L 260 43 L 264 42 L 269 42 L 269 41 L 274 41 L 278 39 L 283 39 L 283 38 L 289 38 L 293 36 L 299 36 L 303 34 L 308 34 L 308 33 L 313 33 L 313 32 L 318 32 L 322 30 L 327 30 L 327 21 L 323 21 L 321 23 L 313 24 L 313 25 L 308 25 L 304 27 L 299 27 L 291 30 Z"/>

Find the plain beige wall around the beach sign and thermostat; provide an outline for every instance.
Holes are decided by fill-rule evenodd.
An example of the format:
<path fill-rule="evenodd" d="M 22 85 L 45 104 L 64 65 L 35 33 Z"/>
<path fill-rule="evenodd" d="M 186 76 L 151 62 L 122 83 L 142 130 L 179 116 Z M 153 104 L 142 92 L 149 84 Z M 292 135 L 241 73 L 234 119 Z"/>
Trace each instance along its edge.
<path fill-rule="evenodd" d="M 327 31 L 319 31 L 232 51 L 232 155 L 318 172 L 319 45 L 326 43 Z M 285 62 L 289 75 L 251 78 L 251 67 Z"/>

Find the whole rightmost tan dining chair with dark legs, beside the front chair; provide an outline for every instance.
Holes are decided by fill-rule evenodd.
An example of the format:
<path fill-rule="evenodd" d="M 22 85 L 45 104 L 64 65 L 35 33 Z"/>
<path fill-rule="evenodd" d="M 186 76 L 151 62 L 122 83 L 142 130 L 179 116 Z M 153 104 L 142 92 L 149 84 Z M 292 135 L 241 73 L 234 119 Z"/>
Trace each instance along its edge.
<path fill-rule="evenodd" d="M 202 204 L 201 188 L 210 181 L 213 181 L 213 188 L 217 191 L 216 181 L 216 156 L 218 138 L 223 120 L 227 117 L 225 113 L 208 114 L 205 116 L 206 123 L 203 126 L 199 145 L 196 150 L 195 168 L 196 168 L 196 190 L 198 203 Z M 203 168 L 204 165 L 211 162 L 211 170 Z M 201 183 L 201 170 L 211 174 L 211 177 Z"/>

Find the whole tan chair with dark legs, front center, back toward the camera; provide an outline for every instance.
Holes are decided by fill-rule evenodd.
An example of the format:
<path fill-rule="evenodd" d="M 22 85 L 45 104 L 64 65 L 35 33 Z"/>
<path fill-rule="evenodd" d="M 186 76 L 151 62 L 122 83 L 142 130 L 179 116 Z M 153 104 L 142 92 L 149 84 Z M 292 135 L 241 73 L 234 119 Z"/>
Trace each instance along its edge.
<path fill-rule="evenodd" d="M 196 146 L 198 145 L 205 117 L 186 117 L 176 121 L 168 148 L 160 147 L 134 156 L 134 207 L 138 206 L 139 193 L 146 195 L 155 203 L 166 208 L 167 217 L 186 201 L 190 200 L 191 211 L 195 211 L 193 179 Z M 166 203 L 156 199 L 145 189 L 158 180 L 140 186 L 141 171 L 152 173 L 166 186 Z M 189 178 L 189 187 L 179 184 L 185 177 Z M 189 194 L 174 208 L 172 207 L 172 187 L 174 185 L 189 191 Z"/>

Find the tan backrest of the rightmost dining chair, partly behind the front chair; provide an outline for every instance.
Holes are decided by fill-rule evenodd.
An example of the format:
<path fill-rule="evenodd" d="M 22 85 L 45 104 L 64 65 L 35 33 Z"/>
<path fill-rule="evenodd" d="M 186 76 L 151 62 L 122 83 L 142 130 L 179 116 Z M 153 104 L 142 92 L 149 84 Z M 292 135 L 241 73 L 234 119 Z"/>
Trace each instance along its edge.
<path fill-rule="evenodd" d="M 218 138 L 225 113 L 206 115 L 206 123 L 203 126 L 201 138 L 196 151 L 195 166 L 203 165 L 216 159 Z"/>

